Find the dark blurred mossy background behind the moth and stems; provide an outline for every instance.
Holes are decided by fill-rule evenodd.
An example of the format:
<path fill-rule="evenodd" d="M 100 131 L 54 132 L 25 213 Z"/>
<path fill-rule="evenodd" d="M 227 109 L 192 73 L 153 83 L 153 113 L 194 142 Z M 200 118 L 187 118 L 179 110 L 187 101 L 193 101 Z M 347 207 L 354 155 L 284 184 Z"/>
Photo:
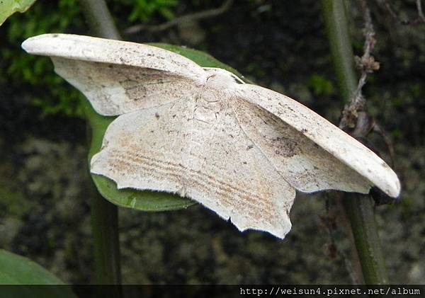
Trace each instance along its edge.
<path fill-rule="evenodd" d="M 375 211 L 390 280 L 424 283 L 425 24 L 401 25 L 380 1 L 368 3 L 381 68 L 370 76 L 365 96 L 392 139 L 403 188 L 400 202 Z M 122 31 L 220 4 L 108 1 Z M 363 24 L 356 2 L 350 1 L 348 11 L 353 47 L 361 55 Z M 414 1 L 397 2 L 395 11 L 400 18 L 416 18 Z M 215 18 L 125 39 L 209 52 L 336 123 L 343 103 L 320 13 L 314 0 L 234 1 Z M 65 282 L 89 283 L 93 258 L 82 96 L 53 72 L 49 59 L 20 48 L 32 35 L 57 32 L 89 34 L 76 0 L 39 0 L 0 27 L 0 248 L 28 256 Z M 375 136 L 372 142 L 385 152 L 382 139 Z M 284 241 L 257 231 L 241 234 L 199 205 L 158 213 L 121 208 L 123 282 L 350 283 L 350 246 L 329 200 L 326 194 L 297 195 L 293 229 Z"/>

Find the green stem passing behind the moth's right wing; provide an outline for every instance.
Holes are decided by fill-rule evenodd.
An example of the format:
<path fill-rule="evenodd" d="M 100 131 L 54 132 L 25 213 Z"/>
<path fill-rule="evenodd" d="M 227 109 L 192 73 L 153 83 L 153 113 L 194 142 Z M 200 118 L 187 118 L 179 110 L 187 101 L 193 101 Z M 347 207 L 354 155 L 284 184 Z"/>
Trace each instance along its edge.
<path fill-rule="evenodd" d="M 322 0 L 322 11 L 341 97 L 348 103 L 357 78 L 344 1 Z M 375 224 L 373 205 L 366 195 L 347 194 L 344 209 L 366 284 L 387 284 L 387 270 Z"/>

